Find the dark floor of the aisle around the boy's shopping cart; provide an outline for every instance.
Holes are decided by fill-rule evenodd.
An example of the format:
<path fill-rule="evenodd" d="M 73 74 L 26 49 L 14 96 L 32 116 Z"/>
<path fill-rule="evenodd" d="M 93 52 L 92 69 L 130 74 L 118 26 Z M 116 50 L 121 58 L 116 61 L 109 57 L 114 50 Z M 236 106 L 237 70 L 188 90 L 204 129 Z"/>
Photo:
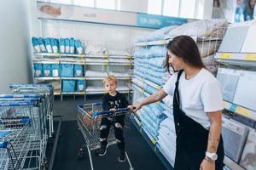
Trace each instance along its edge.
<path fill-rule="evenodd" d="M 93 103 L 101 100 L 101 96 L 89 97 L 86 102 L 84 98 L 73 99 L 64 98 L 55 99 L 54 113 L 55 116 L 62 116 L 61 136 L 58 142 L 58 148 L 55 155 L 55 170 L 79 170 L 90 169 L 89 156 L 86 153 L 84 160 L 79 161 L 77 158 L 79 148 L 84 144 L 84 138 L 80 133 L 76 120 L 76 105 L 83 103 Z M 131 164 L 135 170 L 165 170 L 163 163 L 155 155 L 147 144 L 143 136 L 137 131 L 137 128 L 131 123 L 125 135 L 126 150 L 131 159 Z M 97 170 L 123 170 L 129 169 L 127 161 L 119 162 L 119 150 L 116 145 L 108 148 L 106 156 L 95 156 L 92 153 L 94 168 Z"/>

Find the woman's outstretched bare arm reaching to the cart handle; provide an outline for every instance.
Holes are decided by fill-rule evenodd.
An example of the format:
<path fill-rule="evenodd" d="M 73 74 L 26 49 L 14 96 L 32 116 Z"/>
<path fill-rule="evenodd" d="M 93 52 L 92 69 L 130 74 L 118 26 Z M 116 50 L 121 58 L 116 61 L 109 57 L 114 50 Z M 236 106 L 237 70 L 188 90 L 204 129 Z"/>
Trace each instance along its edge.
<path fill-rule="evenodd" d="M 143 105 L 152 104 L 154 102 L 158 102 L 161 99 L 164 99 L 167 96 L 166 92 L 163 89 L 160 89 L 155 94 L 152 94 L 151 96 L 148 96 L 148 98 L 143 99 L 141 102 L 137 103 L 136 105 L 129 105 L 128 108 L 137 111 L 142 108 Z"/>

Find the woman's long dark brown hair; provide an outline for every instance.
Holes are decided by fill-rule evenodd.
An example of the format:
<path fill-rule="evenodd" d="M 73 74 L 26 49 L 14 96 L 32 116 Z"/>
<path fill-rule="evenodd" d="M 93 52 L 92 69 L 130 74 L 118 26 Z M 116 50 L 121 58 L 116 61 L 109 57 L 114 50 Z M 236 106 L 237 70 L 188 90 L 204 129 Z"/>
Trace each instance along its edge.
<path fill-rule="evenodd" d="M 186 63 L 191 66 L 198 68 L 204 68 L 204 64 L 201 60 L 201 54 L 196 46 L 195 40 L 189 36 L 177 36 L 168 42 L 167 49 L 177 57 L 182 58 Z M 165 67 L 170 73 L 169 57 L 166 54 L 166 65 Z M 173 67 L 172 67 L 173 68 Z"/>

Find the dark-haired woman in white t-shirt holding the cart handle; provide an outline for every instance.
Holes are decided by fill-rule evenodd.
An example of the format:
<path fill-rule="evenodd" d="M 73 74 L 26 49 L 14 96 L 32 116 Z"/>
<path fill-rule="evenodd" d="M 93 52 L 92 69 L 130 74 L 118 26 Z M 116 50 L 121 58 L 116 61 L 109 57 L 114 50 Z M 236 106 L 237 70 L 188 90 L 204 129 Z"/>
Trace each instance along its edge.
<path fill-rule="evenodd" d="M 188 36 L 175 37 L 168 43 L 166 66 L 178 73 L 159 92 L 130 109 L 137 111 L 172 95 L 177 134 L 174 169 L 223 169 L 220 83 L 205 69 L 195 41 Z"/>

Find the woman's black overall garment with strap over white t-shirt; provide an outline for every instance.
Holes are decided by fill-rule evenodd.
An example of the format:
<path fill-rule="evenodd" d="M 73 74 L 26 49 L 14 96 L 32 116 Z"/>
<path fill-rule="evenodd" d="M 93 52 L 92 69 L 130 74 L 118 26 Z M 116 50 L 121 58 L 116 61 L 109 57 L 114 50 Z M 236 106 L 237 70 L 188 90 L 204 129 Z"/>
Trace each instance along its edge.
<path fill-rule="evenodd" d="M 199 170 L 201 161 L 206 156 L 209 131 L 200 123 L 186 116 L 179 108 L 178 81 L 182 72 L 178 72 L 173 96 L 173 116 L 177 134 L 174 170 Z M 217 155 L 216 170 L 223 170 L 224 146 L 222 136 L 220 136 Z"/>

